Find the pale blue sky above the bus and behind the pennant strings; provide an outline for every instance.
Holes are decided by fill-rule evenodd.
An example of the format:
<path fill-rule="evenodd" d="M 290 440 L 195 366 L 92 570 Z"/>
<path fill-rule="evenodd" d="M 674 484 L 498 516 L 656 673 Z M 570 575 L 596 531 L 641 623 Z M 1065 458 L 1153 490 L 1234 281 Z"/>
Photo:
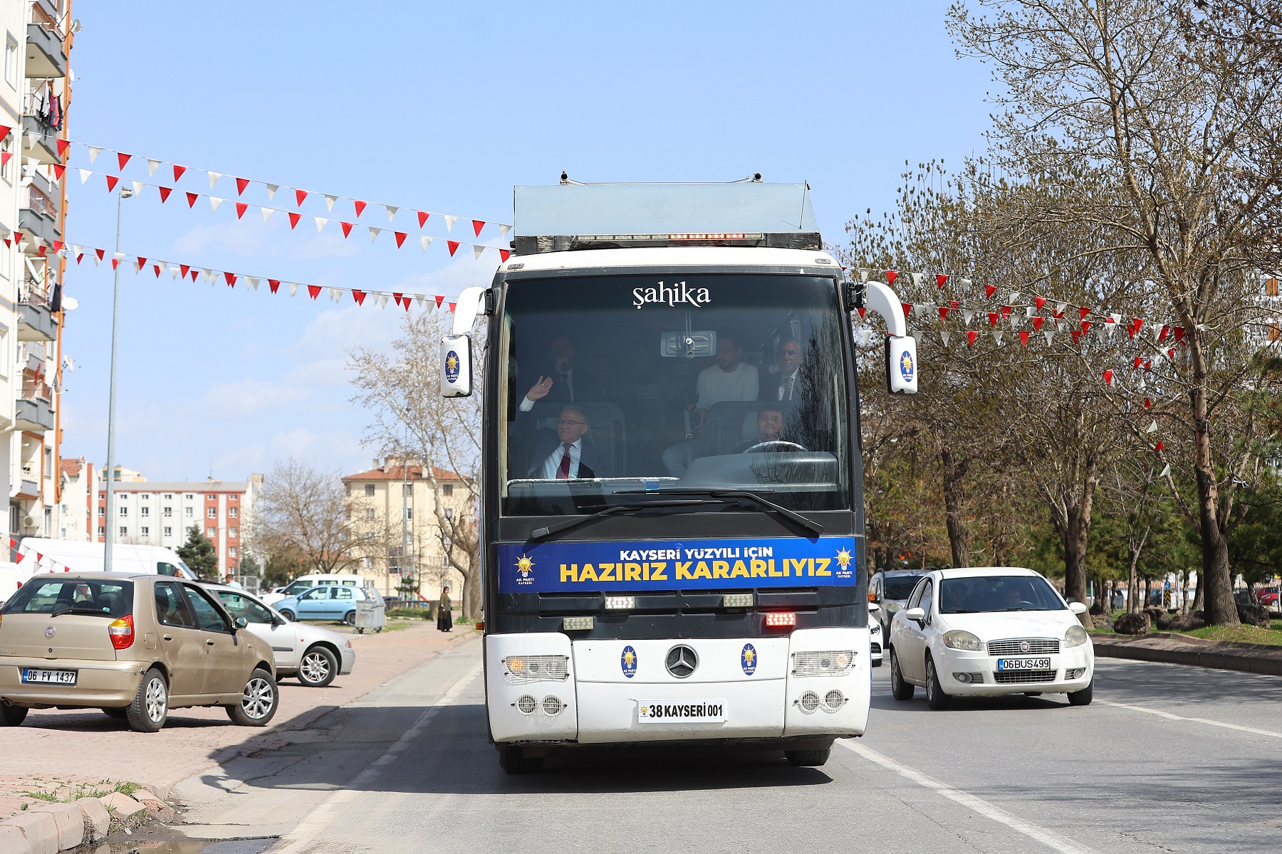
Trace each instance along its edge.
<path fill-rule="evenodd" d="M 78 142 L 226 175 L 512 222 L 512 187 L 583 181 L 810 182 L 828 241 L 886 210 L 904 161 L 982 149 L 985 69 L 958 60 L 944 3 L 112 3 L 76 4 Z M 110 164 L 114 166 L 114 163 Z M 115 200 L 73 146 L 68 242 L 110 247 Z M 169 183 L 169 182 L 165 182 Z M 188 173 L 178 189 L 210 191 Z M 259 186 L 250 204 L 268 201 Z M 322 216 L 324 205 L 305 210 Z M 340 219 L 336 205 L 333 219 Z M 403 214 L 404 216 L 404 214 Z M 342 218 L 350 219 L 350 209 Z M 360 223 L 386 225 L 382 209 Z M 409 230 L 417 232 L 413 220 Z M 397 225 L 400 228 L 400 225 Z M 445 237 L 444 223 L 426 233 Z M 455 236 L 470 236 L 460 222 Z M 492 237 L 492 232 L 482 234 Z M 315 284 L 458 293 L 497 264 L 444 241 L 370 245 L 264 225 L 155 188 L 124 202 L 121 248 Z M 350 402 L 354 346 L 383 346 L 400 310 L 122 273 L 117 461 L 151 480 L 238 480 L 296 456 L 368 467 Z M 106 456 L 112 270 L 72 266 L 63 456 Z M 414 309 L 418 310 L 417 307 Z"/>

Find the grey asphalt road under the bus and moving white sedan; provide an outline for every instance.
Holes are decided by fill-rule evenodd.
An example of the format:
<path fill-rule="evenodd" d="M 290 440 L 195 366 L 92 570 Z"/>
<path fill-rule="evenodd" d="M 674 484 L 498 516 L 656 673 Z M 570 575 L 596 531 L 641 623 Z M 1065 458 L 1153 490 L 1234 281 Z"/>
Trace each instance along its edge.
<path fill-rule="evenodd" d="M 769 754 L 576 754 L 509 777 L 485 739 L 479 644 L 310 741 L 176 794 L 192 836 L 350 851 L 1278 851 L 1282 680 L 1101 659 L 1095 703 L 890 698 L 823 768 Z"/>

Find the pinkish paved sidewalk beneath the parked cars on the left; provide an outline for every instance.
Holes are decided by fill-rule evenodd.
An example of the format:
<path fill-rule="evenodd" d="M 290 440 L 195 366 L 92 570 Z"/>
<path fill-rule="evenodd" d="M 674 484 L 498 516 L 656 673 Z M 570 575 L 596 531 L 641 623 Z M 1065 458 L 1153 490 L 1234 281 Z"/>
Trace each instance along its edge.
<path fill-rule="evenodd" d="M 237 754 L 271 746 L 313 721 L 346 705 L 470 638 L 468 626 L 442 634 L 428 621 L 399 631 L 353 635 L 356 665 L 327 688 L 281 682 L 281 708 L 265 727 L 236 726 L 221 708 L 186 708 L 169 713 L 155 734 L 131 731 L 97 709 L 33 709 L 17 727 L 0 727 L 0 819 L 22 809 L 22 789 L 56 785 L 136 782 L 167 798 L 176 782 Z M 108 786 L 110 789 L 110 786 Z"/>

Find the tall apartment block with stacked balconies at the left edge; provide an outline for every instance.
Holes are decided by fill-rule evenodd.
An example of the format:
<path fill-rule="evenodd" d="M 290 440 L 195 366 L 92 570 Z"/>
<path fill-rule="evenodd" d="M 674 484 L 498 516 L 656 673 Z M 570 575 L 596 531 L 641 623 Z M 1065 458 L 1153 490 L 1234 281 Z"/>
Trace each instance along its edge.
<path fill-rule="evenodd" d="M 13 538 L 58 536 L 67 195 L 54 164 L 71 102 L 71 0 L 0 0 L 0 478 Z M 10 558 L 13 554 L 9 556 Z"/>

